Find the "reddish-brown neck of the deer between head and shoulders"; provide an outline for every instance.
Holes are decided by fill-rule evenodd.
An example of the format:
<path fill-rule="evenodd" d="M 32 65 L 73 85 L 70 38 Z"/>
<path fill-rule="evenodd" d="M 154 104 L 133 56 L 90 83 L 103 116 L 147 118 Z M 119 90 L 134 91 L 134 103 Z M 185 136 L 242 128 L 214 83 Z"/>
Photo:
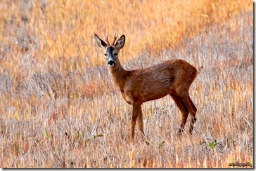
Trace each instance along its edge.
<path fill-rule="evenodd" d="M 117 61 L 115 67 L 110 67 L 110 73 L 120 90 L 123 90 L 127 78 L 127 71 L 122 67 L 119 61 Z"/>

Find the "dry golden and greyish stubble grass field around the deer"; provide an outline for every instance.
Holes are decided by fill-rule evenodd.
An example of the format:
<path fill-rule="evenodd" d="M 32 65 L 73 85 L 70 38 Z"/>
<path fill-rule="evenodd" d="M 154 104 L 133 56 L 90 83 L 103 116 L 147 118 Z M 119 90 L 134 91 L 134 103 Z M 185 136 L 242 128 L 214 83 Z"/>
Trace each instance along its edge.
<path fill-rule="evenodd" d="M 249 0 L 1 0 L 0 167 L 253 167 Z M 171 97 L 142 105 L 147 145 L 94 33 L 126 35 L 124 69 L 186 60 L 193 136 Z M 185 126 L 188 130 L 188 123 Z M 251 168 L 250 166 L 235 166 Z"/>

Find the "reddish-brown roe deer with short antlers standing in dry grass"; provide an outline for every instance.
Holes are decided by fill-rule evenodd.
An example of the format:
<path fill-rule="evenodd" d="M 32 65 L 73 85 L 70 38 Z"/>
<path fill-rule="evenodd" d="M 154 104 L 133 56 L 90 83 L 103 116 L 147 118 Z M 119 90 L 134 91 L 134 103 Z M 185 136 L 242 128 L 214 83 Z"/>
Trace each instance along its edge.
<path fill-rule="evenodd" d="M 117 39 L 115 34 L 111 44 L 108 41 L 108 34 L 105 37 L 106 43 L 96 34 L 95 39 L 98 46 L 104 50 L 105 60 L 115 83 L 120 88 L 122 97 L 127 103 L 132 104 L 130 140 L 134 139 L 136 120 L 138 120 L 139 130 L 145 137 L 141 104 L 165 95 L 170 95 L 181 111 L 179 135 L 183 132 L 189 113 L 191 114 L 189 133 L 192 134 L 197 109 L 188 95 L 188 89 L 197 76 L 195 67 L 184 60 L 168 60 L 146 69 L 127 71 L 118 59 L 118 53 L 125 43 L 125 36 L 122 35 L 115 43 Z"/>

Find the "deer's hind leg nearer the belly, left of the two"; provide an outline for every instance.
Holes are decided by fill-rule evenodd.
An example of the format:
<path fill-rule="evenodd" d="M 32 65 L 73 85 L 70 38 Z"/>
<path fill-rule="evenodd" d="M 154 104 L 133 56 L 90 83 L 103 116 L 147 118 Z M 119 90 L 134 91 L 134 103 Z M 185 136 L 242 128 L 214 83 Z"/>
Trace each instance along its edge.
<path fill-rule="evenodd" d="M 184 130 L 184 126 L 186 124 L 186 119 L 188 118 L 189 111 L 186 105 L 184 104 L 184 102 L 181 100 L 181 97 L 179 97 L 176 93 L 170 93 L 169 95 L 171 95 L 175 104 L 177 104 L 177 107 L 179 107 L 179 110 L 181 111 L 182 117 L 181 117 L 179 132 L 178 132 L 178 135 L 181 135 Z"/>

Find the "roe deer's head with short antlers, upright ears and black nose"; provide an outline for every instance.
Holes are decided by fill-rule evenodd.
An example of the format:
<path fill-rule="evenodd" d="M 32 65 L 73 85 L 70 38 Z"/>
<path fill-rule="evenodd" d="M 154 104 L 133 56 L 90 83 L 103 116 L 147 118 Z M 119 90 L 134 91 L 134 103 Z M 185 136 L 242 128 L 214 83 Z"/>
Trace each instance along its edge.
<path fill-rule="evenodd" d="M 109 67 L 115 67 L 115 64 L 119 62 L 118 60 L 118 53 L 122 47 L 124 47 L 125 43 L 125 36 L 122 35 L 120 39 L 117 40 L 115 43 L 115 40 L 117 39 L 117 33 L 115 34 L 113 42 L 110 44 L 108 41 L 108 34 L 105 36 L 105 41 L 103 41 L 101 38 L 95 34 L 95 39 L 98 43 L 98 46 L 103 48 L 104 50 L 104 55 L 105 55 L 105 60 L 108 64 Z"/>

